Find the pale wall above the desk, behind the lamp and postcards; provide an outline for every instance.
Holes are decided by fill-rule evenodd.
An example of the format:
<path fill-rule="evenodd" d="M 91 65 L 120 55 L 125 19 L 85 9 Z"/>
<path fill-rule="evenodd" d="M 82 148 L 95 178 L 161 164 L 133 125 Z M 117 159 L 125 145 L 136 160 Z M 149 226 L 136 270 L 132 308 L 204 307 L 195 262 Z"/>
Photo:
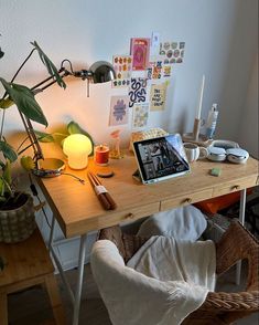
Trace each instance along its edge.
<path fill-rule="evenodd" d="M 152 113 L 150 126 L 169 132 L 191 132 L 202 75 L 206 76 L 202 116 L 219 104 L 217 136 L 238 138 L 247 85 L 257 45 L 257 0 L 0 0 L 0 75 L 10 80 L 36 40 L 58 65 L 69 59 L 75 69 L 88 67 L 112 54 L 128 54 L 130 38 L 161 33 L 162 41 L 185 41 L 184 63 L 173 67 L 166 108 Z M 28 62 L 17 82 L 33 85 L 45 77 L 36 56 Z M 75 119 L 95 141 L 108 141 L 110 84 L 91 85 L 67 80 L 37 95 L 50 130 Z M 248 105 L 249 106 L 249 105 Z M 253 112 L 253 111 L 252 111 Z M 251 113 L 251 116 L 253 113 Z M 252 117 L 251 117 L 252 118 Z M 37 127 L 37 126 L 36 126 Z M 40 126 L 37 128 L 41 128 Z M 14 108 L 8 113 L 10 133 L 23 127 Z M 130 124 L 122 126 L 125 144 Z M 253 137 L 253 136 L 252 136 Z M 54 155 L 48 150 L 46 156 Z"/>

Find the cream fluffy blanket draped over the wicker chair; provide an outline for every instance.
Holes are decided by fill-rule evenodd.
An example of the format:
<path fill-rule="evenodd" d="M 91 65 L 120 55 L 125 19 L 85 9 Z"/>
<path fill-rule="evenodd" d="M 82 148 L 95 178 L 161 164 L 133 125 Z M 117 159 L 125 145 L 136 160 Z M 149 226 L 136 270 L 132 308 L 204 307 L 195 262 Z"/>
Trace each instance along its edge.
<path fill-rule="evenodd" d="M 101 240 L 94 244 L 91 269 L 114 325 L 179 325 L 214 289 L 215 260 L 211 241 L 153 237 L 129 268 L 116 245 Z"/>

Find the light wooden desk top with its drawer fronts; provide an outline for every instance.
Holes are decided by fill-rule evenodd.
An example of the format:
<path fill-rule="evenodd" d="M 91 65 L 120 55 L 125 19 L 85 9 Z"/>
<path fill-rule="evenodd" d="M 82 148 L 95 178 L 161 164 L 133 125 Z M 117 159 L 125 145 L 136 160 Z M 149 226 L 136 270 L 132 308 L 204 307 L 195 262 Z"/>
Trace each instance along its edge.
<path fill-rule="evenodd" d="M 214 167 L 222 169 L 219 177 L 209 175 Z M 131 154 L 111 159 L 109 168 L 115 176 L 100 181 L 118 206 L 112 211 L 104 210 L 89 184 L 87 171 L 105 169 L 95 166 L 91 159 L 87 169 L 66 168 L 66 172 L 83 178 L 85 185 L 67 175 L 37 178 L 66 238 L 258 185 L 258 160 L 253 158 L 239 165 L 198 160 L 191 164 L 191 174 L 152 185 L 132 178 L 137 164 Z"/>

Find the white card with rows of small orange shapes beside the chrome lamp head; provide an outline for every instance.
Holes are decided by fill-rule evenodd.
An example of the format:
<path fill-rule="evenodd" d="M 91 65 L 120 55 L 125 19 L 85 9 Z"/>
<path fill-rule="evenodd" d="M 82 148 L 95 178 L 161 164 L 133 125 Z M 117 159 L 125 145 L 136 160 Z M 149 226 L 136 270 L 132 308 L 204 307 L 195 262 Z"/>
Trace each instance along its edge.
<path fill-rule="evenodd" d="M 129 86 L 132 72 L 132 56 L 114 55 L 112 65 L 116 71 L 116 80 L 112 82 L 112 87 Z"/>

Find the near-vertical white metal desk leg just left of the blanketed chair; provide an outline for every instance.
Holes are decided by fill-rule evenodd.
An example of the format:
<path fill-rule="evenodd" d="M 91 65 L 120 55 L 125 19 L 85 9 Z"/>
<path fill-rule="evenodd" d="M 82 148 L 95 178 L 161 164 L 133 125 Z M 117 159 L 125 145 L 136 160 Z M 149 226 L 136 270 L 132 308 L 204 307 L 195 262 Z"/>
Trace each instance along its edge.
<path fill-rule="evenodd" d="M 83 234 L 80 237 L 78 277 L 77 277 L 77 285 L 76 285 L 76 293 L 75 293 L 73 325 L 78 325 L 78 322 L 79 322 L 80 296 L 82 296 L 82 286 L 83 286 L 83 276 L 84 276 L 85 254 L 86 254 L 86 237 L 87 234 Z"/>

